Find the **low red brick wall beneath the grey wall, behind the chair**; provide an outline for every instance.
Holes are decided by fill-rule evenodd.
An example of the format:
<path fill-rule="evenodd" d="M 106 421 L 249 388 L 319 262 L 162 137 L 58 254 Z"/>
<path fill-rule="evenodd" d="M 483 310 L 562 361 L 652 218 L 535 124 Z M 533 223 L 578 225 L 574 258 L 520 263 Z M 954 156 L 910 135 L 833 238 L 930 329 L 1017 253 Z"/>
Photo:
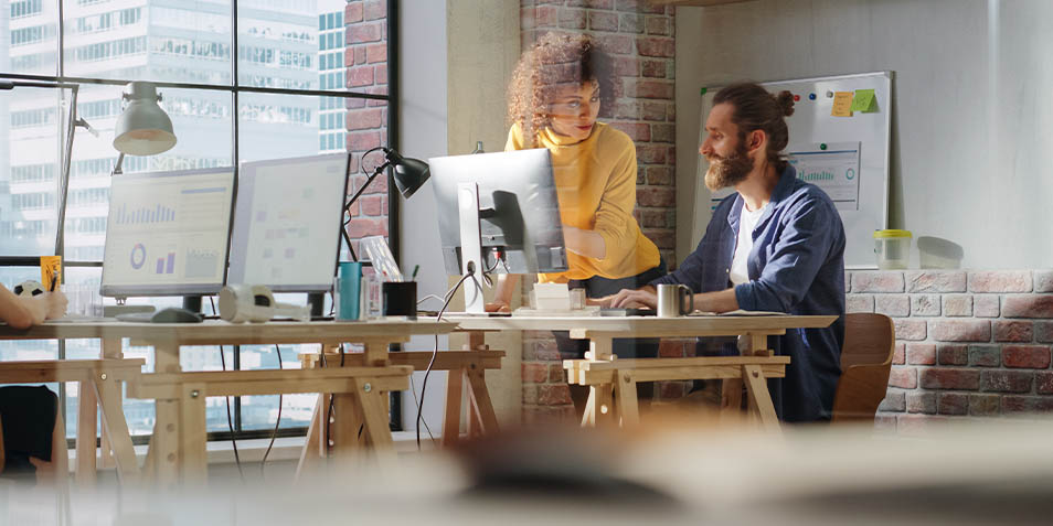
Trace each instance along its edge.
<path fill-rule="evenodd" d="M 857 271 L 849 312 L 893 319 L 878 425 L 1053 412 L 1053 270 Z"/>

